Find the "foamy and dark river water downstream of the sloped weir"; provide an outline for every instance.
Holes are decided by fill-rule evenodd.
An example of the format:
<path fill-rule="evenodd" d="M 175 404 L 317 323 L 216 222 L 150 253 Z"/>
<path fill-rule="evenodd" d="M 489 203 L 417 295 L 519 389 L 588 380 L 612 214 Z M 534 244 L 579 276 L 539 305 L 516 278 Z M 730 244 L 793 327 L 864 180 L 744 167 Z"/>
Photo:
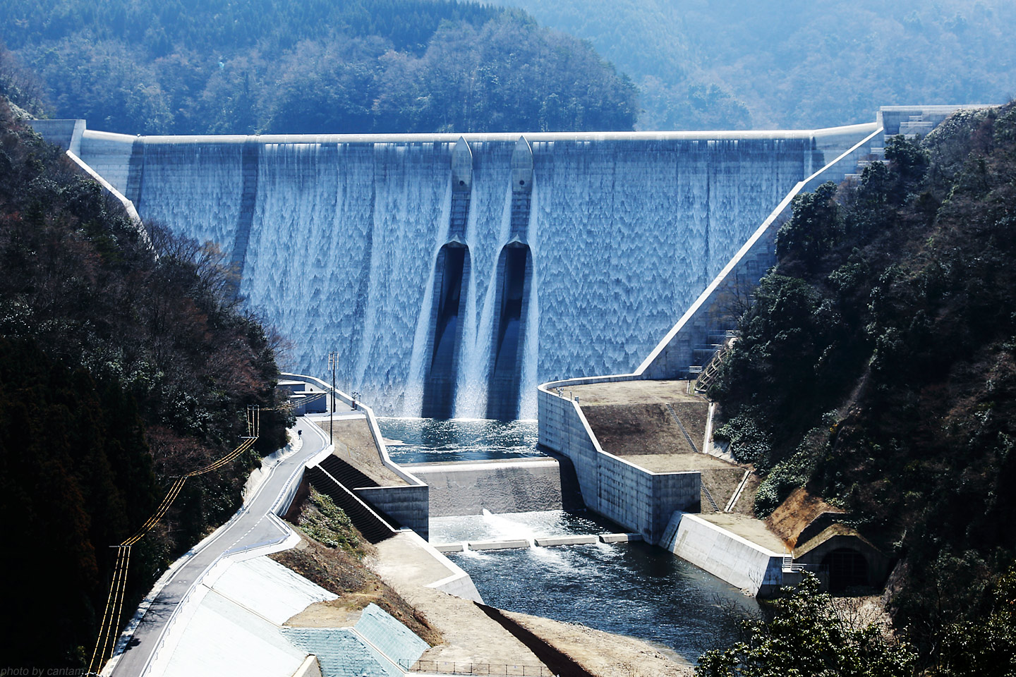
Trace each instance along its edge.
<path fill-rule="evenodd" d="M 438 518 L 432 542 L 594 534 L 611 527 L 561 511 Z M 733 641 L 751 597 L 644 543 L 449 553 L 490 605 L 664 645 L 690 661 Z M 511 571 L 511 576 L 505 576 Z"/>

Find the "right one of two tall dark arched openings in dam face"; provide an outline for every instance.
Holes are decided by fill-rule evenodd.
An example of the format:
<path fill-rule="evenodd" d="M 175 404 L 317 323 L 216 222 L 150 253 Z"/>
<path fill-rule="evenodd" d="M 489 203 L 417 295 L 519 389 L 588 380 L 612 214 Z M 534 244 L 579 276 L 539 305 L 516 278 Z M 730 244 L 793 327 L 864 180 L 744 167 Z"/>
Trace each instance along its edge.
<path fill-rule="evenodd" d="M 529 308 L 532 256 L 521 243 L 506 245 L 498 261 L 497 324 L 492 332 L 487 417 L 518 418 L 525 318 Z"/>

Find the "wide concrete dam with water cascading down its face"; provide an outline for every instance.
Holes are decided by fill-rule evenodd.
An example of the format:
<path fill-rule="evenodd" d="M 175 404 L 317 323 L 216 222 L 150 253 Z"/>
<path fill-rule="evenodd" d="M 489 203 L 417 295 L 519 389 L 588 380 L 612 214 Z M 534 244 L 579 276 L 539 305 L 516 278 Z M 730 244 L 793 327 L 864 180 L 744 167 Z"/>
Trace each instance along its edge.
<path fill-rule="evenodd" d="M 64 142 L 145 222 L 215 243 L 296 370 L 337 350 L 337 385 L 381 414 L 513 419 L 535 417 L 541 382 L 630 371 L 787 191 L 874 129 L 132 137 L 77 121 Z"/>

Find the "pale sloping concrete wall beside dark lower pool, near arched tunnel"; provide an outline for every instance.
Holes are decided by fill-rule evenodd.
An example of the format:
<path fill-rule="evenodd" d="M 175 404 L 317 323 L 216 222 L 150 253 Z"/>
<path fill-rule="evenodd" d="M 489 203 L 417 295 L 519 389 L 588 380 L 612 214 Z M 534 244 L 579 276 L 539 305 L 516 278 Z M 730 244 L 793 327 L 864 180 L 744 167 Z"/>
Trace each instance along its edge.
<path fill-rule="evenodd" d="M 700 517 L 675 513 L 659 543 L 732 586 L 765 596 L 783 584 L 783 555 Z"/>

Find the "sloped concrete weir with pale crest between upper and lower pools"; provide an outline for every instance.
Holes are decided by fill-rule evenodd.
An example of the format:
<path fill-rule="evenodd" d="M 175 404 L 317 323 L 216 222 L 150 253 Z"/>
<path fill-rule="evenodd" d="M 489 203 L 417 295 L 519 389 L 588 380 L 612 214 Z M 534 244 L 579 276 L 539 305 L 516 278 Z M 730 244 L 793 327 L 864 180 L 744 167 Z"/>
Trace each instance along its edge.
<path fill-rule="evenodd" d="M 562 510 L 554 459 L 406 466 L 430 487 L 431 517 Z"/>

